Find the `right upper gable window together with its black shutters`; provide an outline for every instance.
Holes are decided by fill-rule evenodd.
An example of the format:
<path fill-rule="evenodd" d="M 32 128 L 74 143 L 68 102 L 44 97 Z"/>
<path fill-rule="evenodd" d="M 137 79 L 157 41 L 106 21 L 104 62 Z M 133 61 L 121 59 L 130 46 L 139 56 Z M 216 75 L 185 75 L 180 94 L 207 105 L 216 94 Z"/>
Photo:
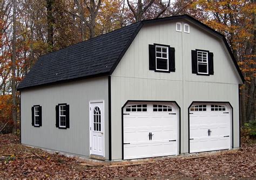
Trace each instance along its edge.
<path fill-rule="evenodd" d="M 213 75 L 213 53 L 206 50 L 192 50 L 192 73 Z"/>

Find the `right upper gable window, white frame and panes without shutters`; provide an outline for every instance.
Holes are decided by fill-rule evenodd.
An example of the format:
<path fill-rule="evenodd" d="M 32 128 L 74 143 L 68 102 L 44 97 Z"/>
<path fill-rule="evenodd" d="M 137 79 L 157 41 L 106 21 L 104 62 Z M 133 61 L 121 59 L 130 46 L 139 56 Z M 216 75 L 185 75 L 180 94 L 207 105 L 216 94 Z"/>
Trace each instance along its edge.
<path fill-rule="evenodd" d="M 197 51 L 198 74 L 208 74 L 208 52 Z"/>

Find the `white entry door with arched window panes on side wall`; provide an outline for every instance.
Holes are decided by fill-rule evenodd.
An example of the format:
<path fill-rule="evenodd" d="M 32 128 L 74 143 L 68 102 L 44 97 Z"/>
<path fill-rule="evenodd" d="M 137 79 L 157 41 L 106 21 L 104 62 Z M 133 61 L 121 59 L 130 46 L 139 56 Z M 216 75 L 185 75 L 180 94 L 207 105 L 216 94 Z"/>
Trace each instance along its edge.
<path fill-rule="evenodd" d="M 90 154 L 104 156 L 104 102 L 90 102 Z"/>

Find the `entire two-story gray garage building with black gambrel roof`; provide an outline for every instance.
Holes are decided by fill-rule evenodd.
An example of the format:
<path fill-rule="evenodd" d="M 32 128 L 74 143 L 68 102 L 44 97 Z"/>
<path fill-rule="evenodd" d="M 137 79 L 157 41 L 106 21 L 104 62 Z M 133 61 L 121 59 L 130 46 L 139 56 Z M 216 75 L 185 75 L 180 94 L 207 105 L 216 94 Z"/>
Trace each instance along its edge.
<path fill-rule="evenodd" d="M 239 148 L 243 83 L 222 34 L 143 20 L 39 57 L 18 85 L 21 141 L 103 161 Z"/>

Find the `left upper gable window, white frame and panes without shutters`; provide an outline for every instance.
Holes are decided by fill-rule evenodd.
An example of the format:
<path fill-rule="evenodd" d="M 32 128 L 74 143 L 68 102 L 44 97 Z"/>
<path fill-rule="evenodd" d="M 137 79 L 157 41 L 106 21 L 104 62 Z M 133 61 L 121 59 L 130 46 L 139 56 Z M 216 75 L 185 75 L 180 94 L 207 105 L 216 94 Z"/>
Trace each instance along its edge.
<path fill-rule="evenodd" d="M 168 47 L 156 46 L 156 70 L 169 71 Z"/>

